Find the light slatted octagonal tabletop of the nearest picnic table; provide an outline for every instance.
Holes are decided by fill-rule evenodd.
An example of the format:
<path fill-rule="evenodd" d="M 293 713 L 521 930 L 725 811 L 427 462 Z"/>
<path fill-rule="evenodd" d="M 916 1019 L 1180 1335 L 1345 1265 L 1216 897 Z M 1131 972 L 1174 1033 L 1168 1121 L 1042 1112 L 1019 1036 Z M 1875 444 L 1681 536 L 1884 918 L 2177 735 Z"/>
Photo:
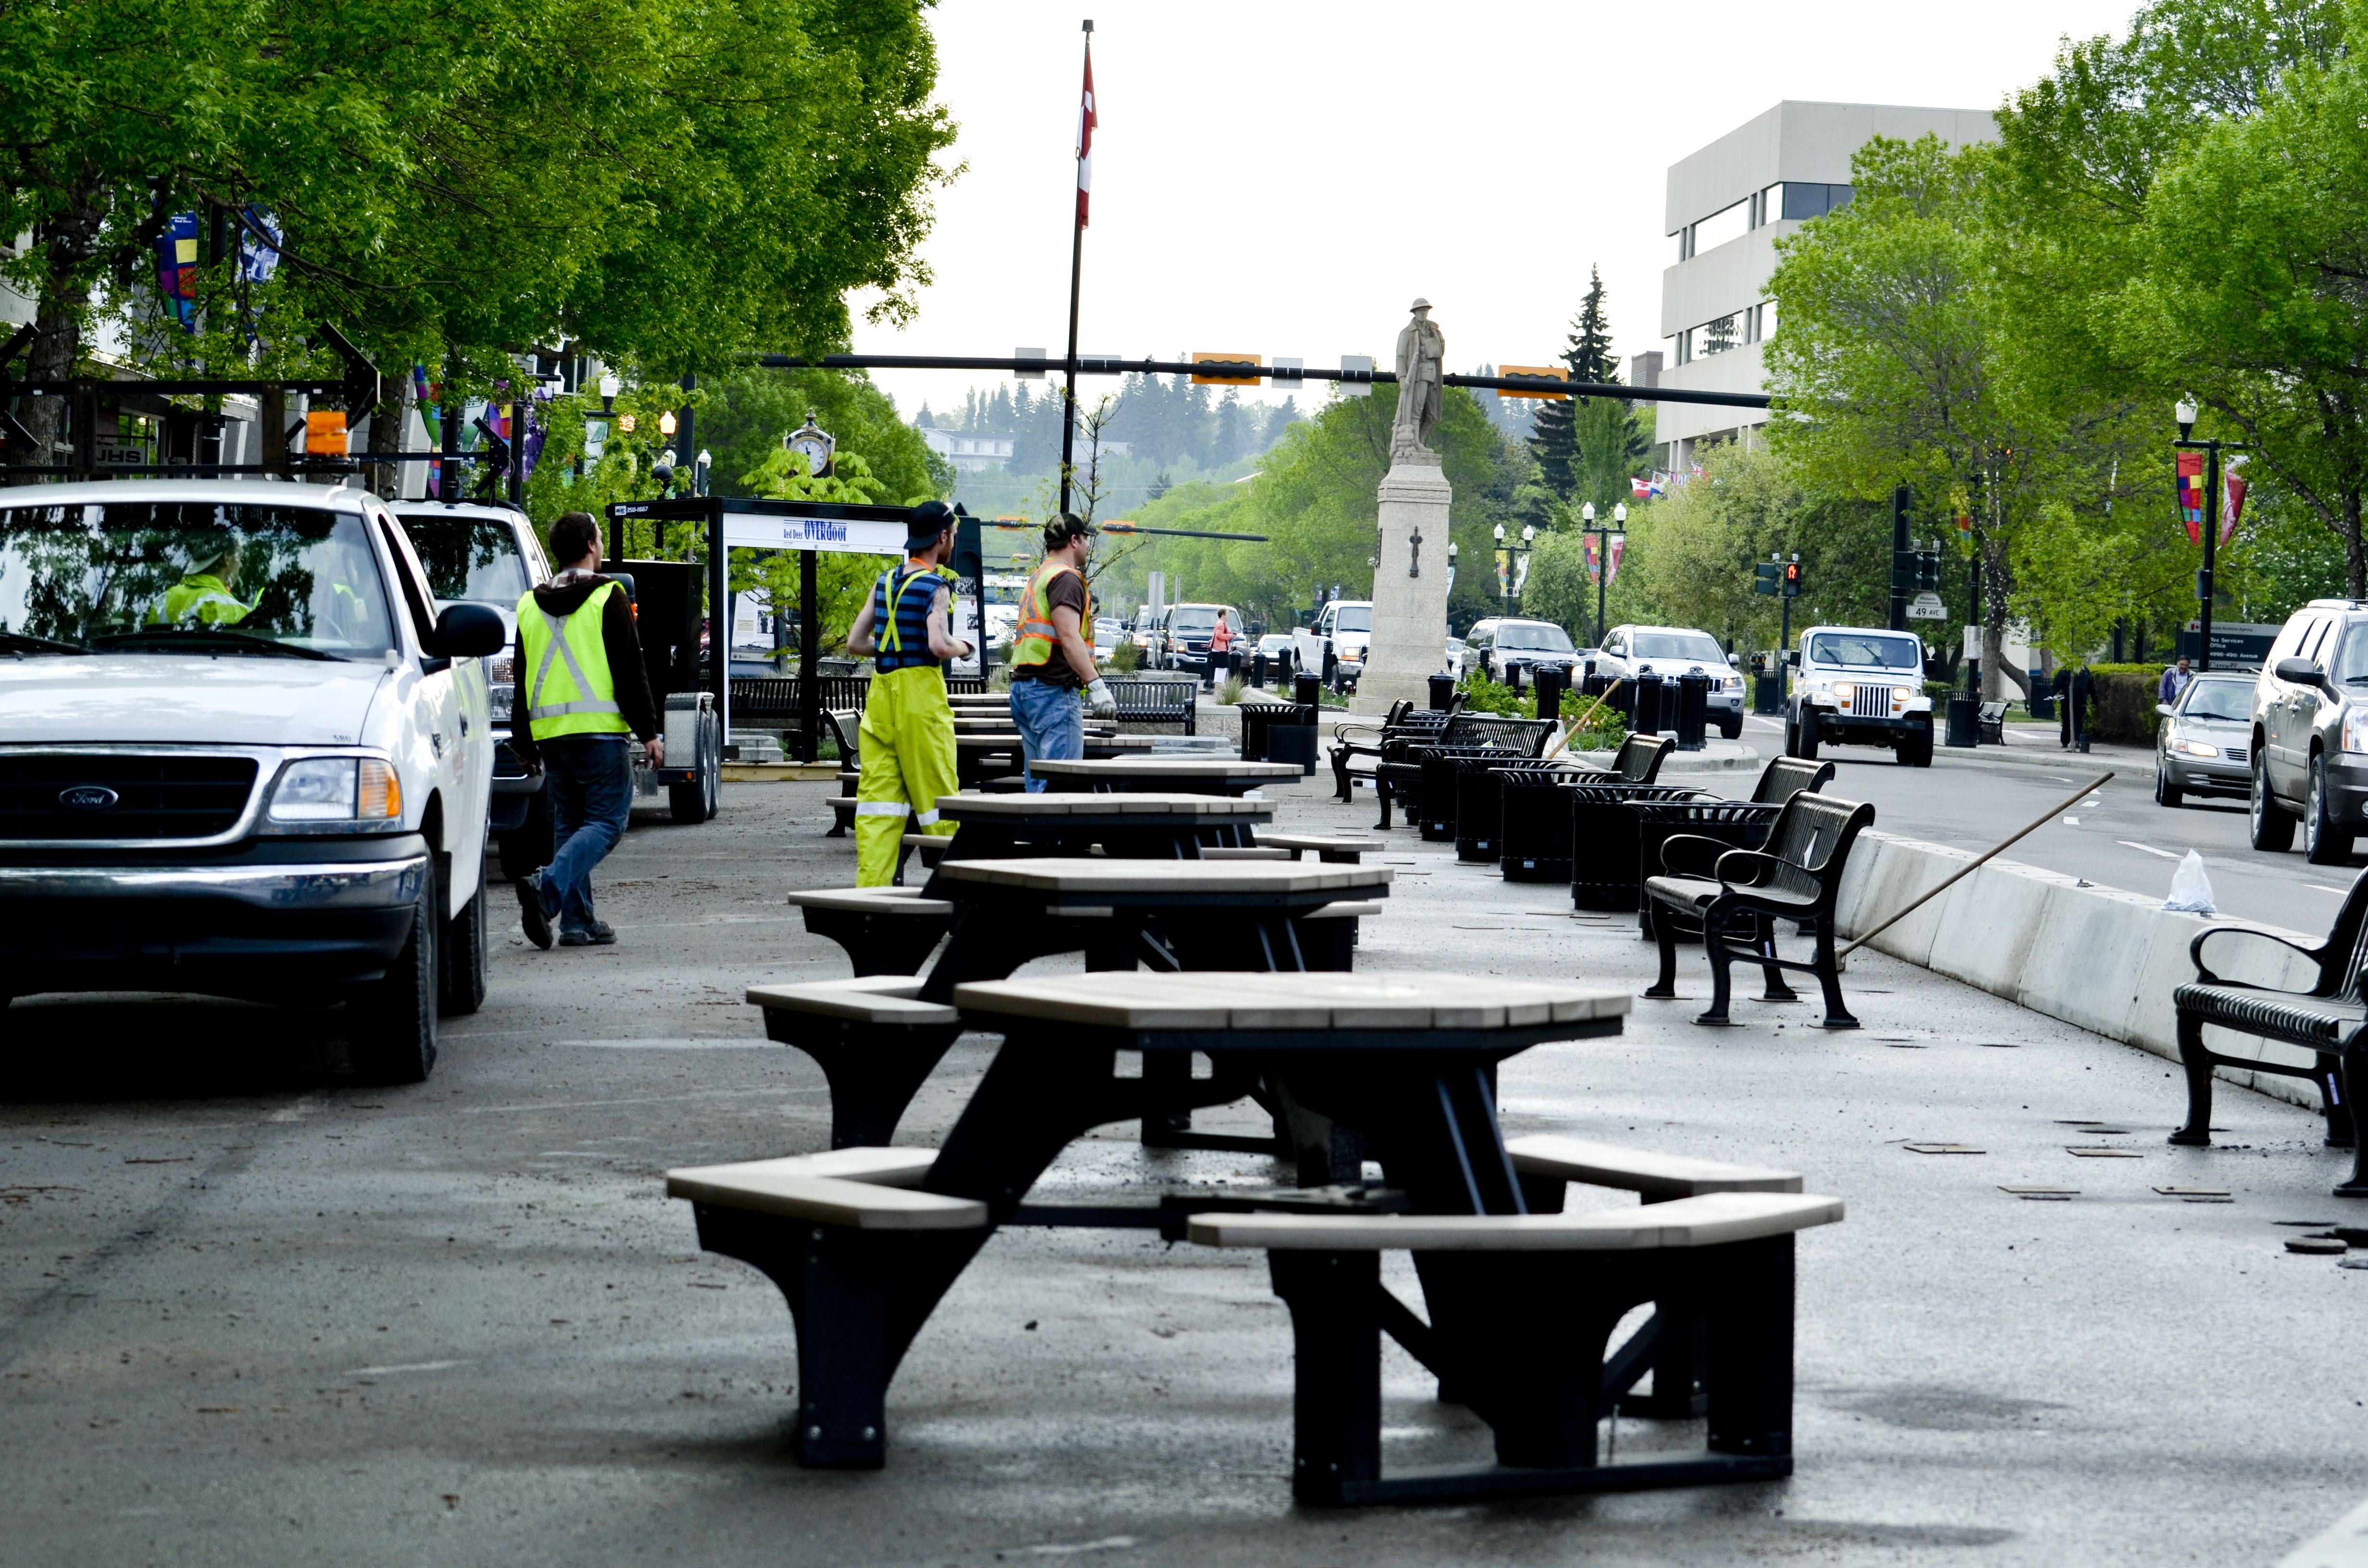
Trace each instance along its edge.
<path fill-rule="evenodd" d="M 1430 1030 L 1587 1023 L 1627 990 L 1456 973 L 1080 973 L 954 988 L 966 1014 L 1134 1030 Z"/>

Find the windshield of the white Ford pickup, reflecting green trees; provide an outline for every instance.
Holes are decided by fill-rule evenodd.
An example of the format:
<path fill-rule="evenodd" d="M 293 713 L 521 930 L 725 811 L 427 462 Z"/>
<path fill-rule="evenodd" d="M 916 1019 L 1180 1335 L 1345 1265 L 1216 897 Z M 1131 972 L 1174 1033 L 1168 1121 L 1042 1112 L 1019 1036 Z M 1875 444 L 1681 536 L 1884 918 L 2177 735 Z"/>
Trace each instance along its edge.
<path fill-rule="evenodd" d="M 9 654 L 395 647 L 360 516 L 220 502 L 0 509 L 0 632 Z"/>

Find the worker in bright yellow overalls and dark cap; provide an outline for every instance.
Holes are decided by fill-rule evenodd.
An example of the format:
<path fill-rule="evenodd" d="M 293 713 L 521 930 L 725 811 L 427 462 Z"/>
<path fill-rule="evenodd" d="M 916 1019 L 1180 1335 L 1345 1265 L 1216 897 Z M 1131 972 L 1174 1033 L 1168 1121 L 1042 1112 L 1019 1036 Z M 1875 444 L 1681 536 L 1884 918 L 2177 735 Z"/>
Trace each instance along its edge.
<path fill-rule="evenodd" d="M 969 658 L 971 644 L 947 630 L 954 573 L 954 509 L 921 502 L 905 526 L 905 564 L 883 571 L 848 628 L 848 651 L 869 654 L 871 689 L 857 727 L 862 767 L 855 779 L 855 886 L 886 888 L 905 850 L 905 820 L 924 834 L 952 834 L 938 798 L 957 793 L 954 711 L 945 701 L 945 661 Z"/>

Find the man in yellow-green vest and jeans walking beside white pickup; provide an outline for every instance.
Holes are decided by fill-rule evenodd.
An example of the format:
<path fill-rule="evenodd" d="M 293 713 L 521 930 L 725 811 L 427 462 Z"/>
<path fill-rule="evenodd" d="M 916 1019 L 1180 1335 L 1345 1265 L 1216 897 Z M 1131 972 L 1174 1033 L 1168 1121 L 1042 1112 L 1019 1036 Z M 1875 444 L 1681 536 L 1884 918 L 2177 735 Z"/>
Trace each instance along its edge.
<path fill-rule="evenodd" d="M 592 867 L 606 860 L 632 817 L 632 756 L 665 765 L 658 703 L 649 696 L 642 640 L 625 585 L 599 576 L 599 523 L 568 512 L 549 533 L 559 576 L 519 597 L 519 658 L 511 677 L 509 744 L 549 779 L 552 862 L 521 876 L 519 919 L 535 947 L 606 947 L 616 931 L 592 914 Z"/>

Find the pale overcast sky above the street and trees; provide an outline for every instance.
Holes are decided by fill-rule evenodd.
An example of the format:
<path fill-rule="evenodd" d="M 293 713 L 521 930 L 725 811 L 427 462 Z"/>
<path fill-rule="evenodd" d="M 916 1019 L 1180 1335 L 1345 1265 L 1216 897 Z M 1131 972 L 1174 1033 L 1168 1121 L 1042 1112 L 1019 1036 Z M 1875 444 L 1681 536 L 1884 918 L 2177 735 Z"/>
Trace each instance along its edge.
<path fill-rule="evenodd" d="M 857 322 L 855 346 L 1061 353 L 1085 17 L 1101 128 L 1082 353 L 1388 365 L 1423 294 L 1449 369 L 1473 369 L 1549 362 L 1589 265 L 1622 355 L 1660 348 L 1667 166 L 1778 99 L 1994 109 L 2065 33 L 2134 9 L 940 0 L 938 99 L 969 171 L 938 194 L 919 317 Z M 990 384 L 876 374 L 907 419 Z"/>

